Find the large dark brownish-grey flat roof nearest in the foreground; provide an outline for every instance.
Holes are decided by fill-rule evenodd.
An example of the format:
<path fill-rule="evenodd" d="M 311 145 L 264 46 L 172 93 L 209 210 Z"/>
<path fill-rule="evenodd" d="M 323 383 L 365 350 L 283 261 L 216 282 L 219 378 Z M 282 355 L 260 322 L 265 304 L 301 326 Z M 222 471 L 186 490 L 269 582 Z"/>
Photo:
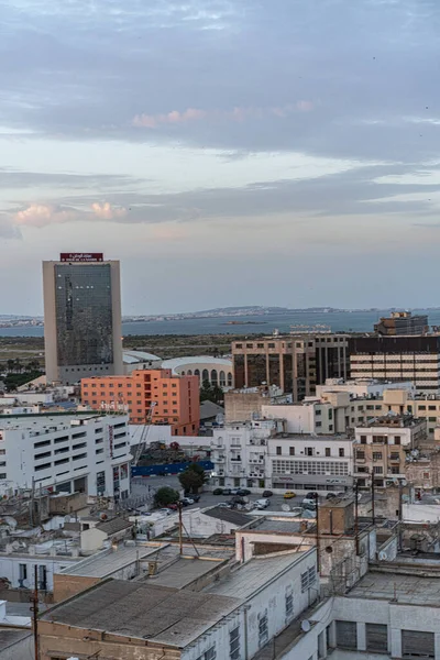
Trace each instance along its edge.
<path fill-rule="evenodd" d="M 241 598 L 108 580 L 50 609 L 43 620 L 182 648 L 242 604 Z"/>

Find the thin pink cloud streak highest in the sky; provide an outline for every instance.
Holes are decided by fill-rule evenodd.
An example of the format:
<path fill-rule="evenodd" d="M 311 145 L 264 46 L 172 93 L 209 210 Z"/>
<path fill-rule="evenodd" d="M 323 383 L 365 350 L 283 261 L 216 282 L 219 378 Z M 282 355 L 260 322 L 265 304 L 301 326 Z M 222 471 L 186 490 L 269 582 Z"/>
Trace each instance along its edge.
<path fill-rule="evenodd" d="M 311 101 L 297 101 L 294 105 L 268 108 L 240 107 L 232 110 L 201 110 L 199 108 L 187 108 L 184 112 L 172 110 L 166 114 L 136 114 L 132 121 L 133 127 L 143 129 L 157 129 L 164 124 L 185 124 L 191 121 L 205 119 L 227 119 L 230 121 L 245 121 L 246 119 L 263 119 L 264 117 L 285 118 L 293 112 L 310 112 L 314 110 Z"/>

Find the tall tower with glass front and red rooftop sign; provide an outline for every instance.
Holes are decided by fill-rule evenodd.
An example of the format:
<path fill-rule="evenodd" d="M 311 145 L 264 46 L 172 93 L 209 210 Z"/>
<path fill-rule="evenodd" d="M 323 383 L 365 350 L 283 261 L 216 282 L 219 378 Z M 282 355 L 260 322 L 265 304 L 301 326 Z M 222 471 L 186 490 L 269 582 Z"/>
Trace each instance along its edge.
<path fill-rule="evenodd" d="M 48 383 L 123 373 L 120 288 L 119 262 L 100 253 L 43 262 Z"/>

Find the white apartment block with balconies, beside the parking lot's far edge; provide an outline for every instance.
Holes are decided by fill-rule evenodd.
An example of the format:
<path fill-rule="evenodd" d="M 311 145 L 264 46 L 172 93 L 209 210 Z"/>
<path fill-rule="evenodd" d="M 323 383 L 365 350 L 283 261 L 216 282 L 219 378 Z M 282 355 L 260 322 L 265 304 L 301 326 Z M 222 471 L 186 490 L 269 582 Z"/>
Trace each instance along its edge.
<path fill-rule="evenodd" d="M 213 484 L 264 488 L 267 438 L 283 430 L 284 422 L 279 419 L 253 420 L 213 429 Z"/>

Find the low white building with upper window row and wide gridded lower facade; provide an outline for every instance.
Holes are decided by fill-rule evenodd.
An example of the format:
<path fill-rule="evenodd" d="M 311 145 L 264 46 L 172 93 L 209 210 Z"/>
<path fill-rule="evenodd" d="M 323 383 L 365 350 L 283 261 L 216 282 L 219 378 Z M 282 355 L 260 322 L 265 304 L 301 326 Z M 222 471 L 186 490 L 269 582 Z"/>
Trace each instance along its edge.
<path fill-rule="evenodd" d="M 266 487 L 326 494 L 353 485 L 353 440 L 278 433 L 267 439 Z"/>

